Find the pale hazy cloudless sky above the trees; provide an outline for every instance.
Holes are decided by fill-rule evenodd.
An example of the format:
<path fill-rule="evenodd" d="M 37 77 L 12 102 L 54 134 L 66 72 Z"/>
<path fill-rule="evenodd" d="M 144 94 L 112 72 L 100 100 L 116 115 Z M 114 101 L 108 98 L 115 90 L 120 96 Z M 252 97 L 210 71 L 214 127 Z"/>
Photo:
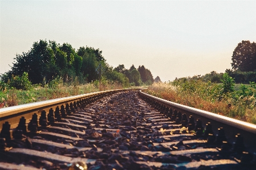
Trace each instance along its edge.
<path fill-rule="evenodd" d="M 0 73 L 39 40 L 99 48 L 162 81 L 223 73 L 238 43 L 256 42 L 256 1 L 0 0 Z"/>

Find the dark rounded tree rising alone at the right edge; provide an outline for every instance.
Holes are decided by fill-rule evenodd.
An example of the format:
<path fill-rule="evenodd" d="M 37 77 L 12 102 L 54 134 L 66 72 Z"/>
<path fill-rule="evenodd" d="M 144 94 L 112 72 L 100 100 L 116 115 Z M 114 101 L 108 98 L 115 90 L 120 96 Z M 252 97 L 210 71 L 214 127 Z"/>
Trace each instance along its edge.
<path fill-rule="evenodd" d="M 232 68 L 242 72 L 256 70 L 256 43 L 249 40 L 242 41 L 234 49 L 232 56 Z"/>

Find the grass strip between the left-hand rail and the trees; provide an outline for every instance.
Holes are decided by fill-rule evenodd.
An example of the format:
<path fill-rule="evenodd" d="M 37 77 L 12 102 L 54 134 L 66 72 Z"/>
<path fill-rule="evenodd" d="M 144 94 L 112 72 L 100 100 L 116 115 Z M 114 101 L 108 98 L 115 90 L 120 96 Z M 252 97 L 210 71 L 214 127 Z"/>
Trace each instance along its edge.
<path fill-rule="evenodd" d="M 0 91 L 0 108 L 113 89 L 123 89 L 123 87 L 118 84 L 104 84 L 99 89 L 95 84 L 77 86 L 59 84 L 54 88 L 37 86 L 30 90 L 9 89 Z"/>

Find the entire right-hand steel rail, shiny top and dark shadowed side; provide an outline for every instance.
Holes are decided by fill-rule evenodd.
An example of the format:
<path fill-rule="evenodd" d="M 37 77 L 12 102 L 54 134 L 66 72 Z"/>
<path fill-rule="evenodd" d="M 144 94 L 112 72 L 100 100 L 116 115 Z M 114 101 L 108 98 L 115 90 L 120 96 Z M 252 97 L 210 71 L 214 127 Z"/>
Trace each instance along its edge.
<path fill-rule="evenodd" d="M 151 96 L 147 93 L 142 92 L 142 90 L 140 90 L 139 93 L 142 94 L 144 97 L 151 98 L 153 99 L 153 101 L 159 102 L 161 105 L 170 107 L 177 111 L 181 111 L 181 113 L 186 113 L 187 116 L 193 115 L 193 117 L 196 119 L 200 118 L 204 125 L 208 122 L 211 122 L 215 134 L 217 134 L 218 128 L 223 127 L 227 140 L 231 143 L 234 142 L 235 135 L 241 134 L 243 136 L 246 148 L 249 148 L 251 151 L 256 152 L 256 125 L 211 113 L 209 111 L 204 111 L 178 103 L 170 102 L 165 99 Z"/>

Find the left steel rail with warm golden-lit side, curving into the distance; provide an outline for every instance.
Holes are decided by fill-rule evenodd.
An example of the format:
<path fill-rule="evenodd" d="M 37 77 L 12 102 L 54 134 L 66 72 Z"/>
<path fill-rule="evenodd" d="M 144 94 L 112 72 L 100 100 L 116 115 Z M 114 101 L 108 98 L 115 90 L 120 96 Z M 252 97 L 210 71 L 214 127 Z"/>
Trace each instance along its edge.
<path fill-rule="evenodd" d="M 140 89 L 143 89 L 143 88 L 140 88 Z M 56 99 L 50 99 L 47 101 L 40 101 L 40 102 L 34 102 L 34 103 L 27 103 L 25 105 L 1 108 L 0 109 L 0 130 L 2 129 L 2 125 L 5 122 L 9 122 L 11 124 L 11 128 L 15 128 L 17 127 L 19 123 L 19 119 L 21 117 L 25 117 L 25 119 L 29 120 L 31 119 L 32 114 L 34 113 L 39 114 L 42 110 L 46 110 L 47 112 L 51 107 L 54 107 L 54 108 L 57 106 L 60 107 L 61 105 L 65 105 L 66 103 L 79 101 L 79 99 L 94 97 L 100 94 L 111 94 L 111 93 L 123 92 L 126 90 L 133 90 L 133 89 L 106 90 L 103 92 L 80 94 L 76 96 L 56 98 Z"/>

